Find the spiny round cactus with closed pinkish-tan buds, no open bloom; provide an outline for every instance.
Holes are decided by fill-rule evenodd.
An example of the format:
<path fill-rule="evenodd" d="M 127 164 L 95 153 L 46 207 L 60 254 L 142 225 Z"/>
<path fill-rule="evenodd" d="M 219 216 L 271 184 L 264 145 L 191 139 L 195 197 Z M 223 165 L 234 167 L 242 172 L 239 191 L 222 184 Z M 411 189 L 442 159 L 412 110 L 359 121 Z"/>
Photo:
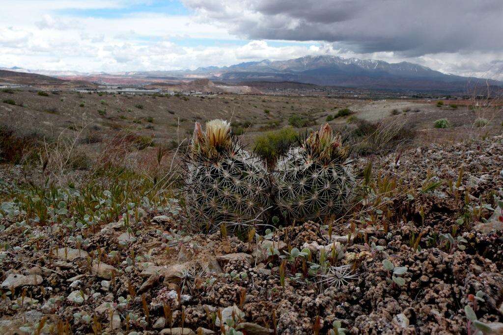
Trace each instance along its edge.
<path fill-rule="evenodd" d="M 355 194 L 350 150 L 325 124 L 278 160 L 273 191 L 292 219 L 323 220 L 347 209 Z"/>

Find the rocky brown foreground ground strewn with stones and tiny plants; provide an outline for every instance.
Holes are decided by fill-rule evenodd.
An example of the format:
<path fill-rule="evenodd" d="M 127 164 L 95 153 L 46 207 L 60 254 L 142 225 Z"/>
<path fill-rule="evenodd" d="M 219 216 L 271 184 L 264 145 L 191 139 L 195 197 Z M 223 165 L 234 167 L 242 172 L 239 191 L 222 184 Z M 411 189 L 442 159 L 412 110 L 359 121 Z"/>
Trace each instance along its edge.
<path fill-rule="evenodd" d="M 175 200 L 71 232 L 5 202 L 0 332 L 503 333 L 503 138 L 389 156 L 365 186 L 334 222 L 239 238 L 185 233 Z"/>

